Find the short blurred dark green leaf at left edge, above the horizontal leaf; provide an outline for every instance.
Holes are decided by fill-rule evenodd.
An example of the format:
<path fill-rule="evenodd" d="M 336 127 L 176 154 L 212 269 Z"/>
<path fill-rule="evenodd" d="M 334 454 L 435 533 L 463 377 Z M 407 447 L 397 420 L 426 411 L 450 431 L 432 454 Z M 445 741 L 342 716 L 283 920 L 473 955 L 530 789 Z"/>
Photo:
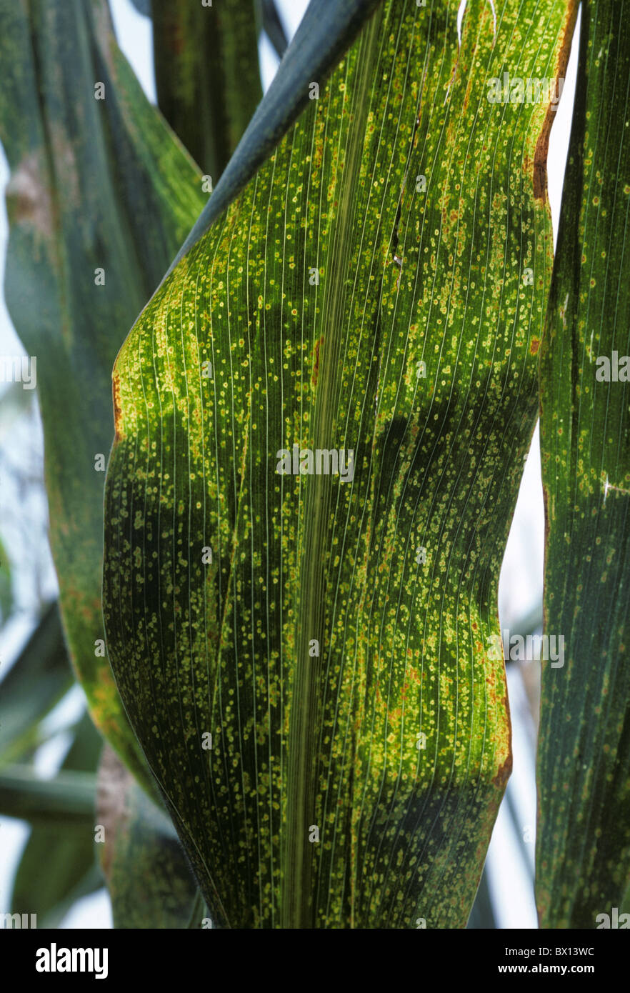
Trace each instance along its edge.
<path fill-rule="evenodd" d="M 45 610 L 0 682 L 0 768 L 40 744 L 40 722 L 72 685 L 59 604 Z"/>

